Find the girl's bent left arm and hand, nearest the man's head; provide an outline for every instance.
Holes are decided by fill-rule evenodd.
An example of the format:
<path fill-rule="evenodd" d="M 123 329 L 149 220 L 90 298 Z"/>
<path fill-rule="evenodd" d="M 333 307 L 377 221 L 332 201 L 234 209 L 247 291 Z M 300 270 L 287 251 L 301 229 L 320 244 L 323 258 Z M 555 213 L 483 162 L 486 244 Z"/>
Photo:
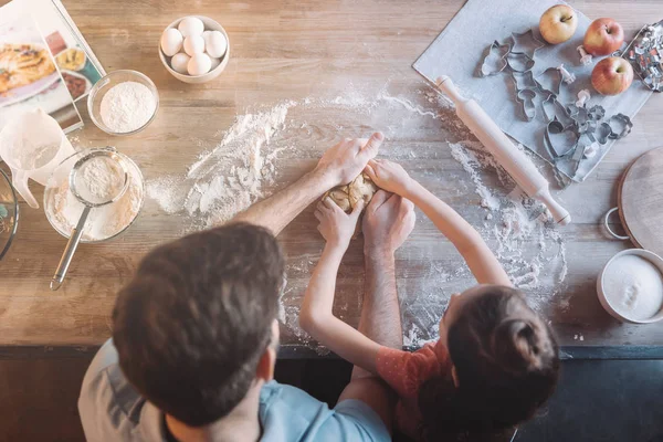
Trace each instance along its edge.
<path fill-rule="evenodd" d="M 346 214 L 329 198 L 318 204 L 315 212 L 318 230 L 327 240 L 299 312 L 299 325 L 332 351 L 365 370 L 377 372 L 376 359 L 380 345 L 338 319 L 332 313 L 336 276 L 340 260 L 357 225 L 362 204 Z"/>

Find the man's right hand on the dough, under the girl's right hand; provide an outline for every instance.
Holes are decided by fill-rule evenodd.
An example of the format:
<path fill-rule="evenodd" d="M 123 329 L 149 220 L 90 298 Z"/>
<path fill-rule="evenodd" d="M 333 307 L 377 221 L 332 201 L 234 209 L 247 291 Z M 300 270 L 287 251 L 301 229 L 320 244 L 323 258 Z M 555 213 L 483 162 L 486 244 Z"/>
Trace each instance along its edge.
<path fill-rule="evenodd" d="M 364 215 L 364 253 L 393 255 L 414 229 L 415 220 L 411 201 L 378 190 Z"/>

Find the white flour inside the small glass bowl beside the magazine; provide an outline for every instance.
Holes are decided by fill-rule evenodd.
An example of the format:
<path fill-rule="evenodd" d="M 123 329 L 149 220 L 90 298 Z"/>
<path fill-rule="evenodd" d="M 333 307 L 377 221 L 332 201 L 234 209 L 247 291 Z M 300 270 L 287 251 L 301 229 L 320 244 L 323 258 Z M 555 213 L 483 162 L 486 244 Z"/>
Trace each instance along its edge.
<path fill-rule="evenodd" d="M 99 113 L 113 131 L 126 134 L 145 126 L 157 108 L 151 91 L 137 82 L 124 82 L 110 87 L 102 98 Z"/>

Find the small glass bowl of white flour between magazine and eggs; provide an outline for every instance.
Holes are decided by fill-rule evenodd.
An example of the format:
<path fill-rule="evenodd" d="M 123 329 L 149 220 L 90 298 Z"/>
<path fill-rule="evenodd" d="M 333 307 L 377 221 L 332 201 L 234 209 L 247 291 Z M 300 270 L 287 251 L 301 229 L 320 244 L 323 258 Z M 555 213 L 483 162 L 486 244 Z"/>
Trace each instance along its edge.
<path fill-rule="evenodd" d="M 130 70 L 110 72 L 87 96 L 92 122 L 110 135 L 139 133 L 155 119 L 158 108 L 157 86 L 146 75 Z"/>

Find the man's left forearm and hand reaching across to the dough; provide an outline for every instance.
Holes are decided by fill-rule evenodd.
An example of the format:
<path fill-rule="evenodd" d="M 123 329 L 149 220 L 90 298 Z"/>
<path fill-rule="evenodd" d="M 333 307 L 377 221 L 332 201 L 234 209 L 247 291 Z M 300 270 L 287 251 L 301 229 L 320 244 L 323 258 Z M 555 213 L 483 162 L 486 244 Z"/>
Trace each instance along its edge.
<path fill-rule="evenodd" d="M 372 134 L 368 140 L 346 138 L 329 148 L 313 171 L 283 191 L 253 204 L 233 221 L 262 225 L 277 235 L 324 192 L 347 185 L 361 173 L 368 160 L 378 155 L 383 138 L 380 133 Z"/>

